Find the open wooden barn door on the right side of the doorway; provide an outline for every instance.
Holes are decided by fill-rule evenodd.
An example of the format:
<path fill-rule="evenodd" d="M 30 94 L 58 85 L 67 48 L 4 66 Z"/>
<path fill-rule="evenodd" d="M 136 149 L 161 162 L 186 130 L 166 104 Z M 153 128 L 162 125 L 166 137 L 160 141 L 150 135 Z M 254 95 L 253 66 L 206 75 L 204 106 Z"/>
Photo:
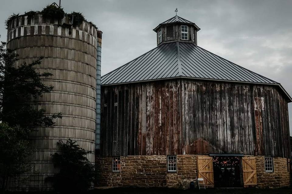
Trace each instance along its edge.
<path fill-rule="evenodd" d="M 242 157 L 243 184 L 245 187 L 256 185 L 256 165 L 254 156 Z"/>

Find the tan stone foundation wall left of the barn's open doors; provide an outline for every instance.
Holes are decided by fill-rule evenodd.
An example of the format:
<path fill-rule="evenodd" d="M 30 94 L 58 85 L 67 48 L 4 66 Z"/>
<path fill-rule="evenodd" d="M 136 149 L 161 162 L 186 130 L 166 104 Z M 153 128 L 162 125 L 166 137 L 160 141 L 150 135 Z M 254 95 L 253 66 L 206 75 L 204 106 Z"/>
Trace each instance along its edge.
<path fill-rule="evenodd" d="M 121 156 L 121 172 L 112 172 L 112 157 L 96 157 L 96 186 L 189 188 L 197 179 L 195 155 L 177 155 L 177 172 L 167 172 L 166 156 Z"/>

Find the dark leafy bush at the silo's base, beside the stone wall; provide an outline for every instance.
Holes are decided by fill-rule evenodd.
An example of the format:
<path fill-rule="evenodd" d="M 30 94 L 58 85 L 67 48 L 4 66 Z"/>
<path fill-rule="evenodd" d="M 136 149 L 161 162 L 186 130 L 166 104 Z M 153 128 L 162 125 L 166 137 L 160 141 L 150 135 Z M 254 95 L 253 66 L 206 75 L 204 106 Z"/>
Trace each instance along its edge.
<path fill-rule="evenodd" d="M 94 182 L 94 165 L 89 162 L 86 155 L 92 153 L 80 148 L 76 141 L 69 139 L 66 143 L 59 141 L 62 152 L 52 155 L 55 168 L 60 172 L 49 177 L 56 191 L 84 192 Z"/>

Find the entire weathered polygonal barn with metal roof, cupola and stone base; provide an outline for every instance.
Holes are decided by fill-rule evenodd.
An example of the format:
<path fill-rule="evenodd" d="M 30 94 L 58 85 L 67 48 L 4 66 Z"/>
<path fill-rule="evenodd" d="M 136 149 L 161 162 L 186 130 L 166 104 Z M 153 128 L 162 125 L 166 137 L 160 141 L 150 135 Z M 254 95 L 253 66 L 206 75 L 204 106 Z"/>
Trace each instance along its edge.
<path fill-rule="evenodd" d="M 199 30 L 176 15 L 156 48 L 102 76 L 97 186 L 290 185 L 291 97 L 197 46 Z"/>

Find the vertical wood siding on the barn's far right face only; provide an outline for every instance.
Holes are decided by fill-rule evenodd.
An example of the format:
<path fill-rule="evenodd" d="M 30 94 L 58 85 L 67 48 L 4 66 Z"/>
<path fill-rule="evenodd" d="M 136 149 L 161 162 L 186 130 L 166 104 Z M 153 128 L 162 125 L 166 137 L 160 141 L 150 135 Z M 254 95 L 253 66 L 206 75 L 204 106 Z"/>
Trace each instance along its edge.
<path fill-rule="evenodd" d="M 272 86 L 254 86 L 255 153 L 290 157 L 287 101 Z"/>

